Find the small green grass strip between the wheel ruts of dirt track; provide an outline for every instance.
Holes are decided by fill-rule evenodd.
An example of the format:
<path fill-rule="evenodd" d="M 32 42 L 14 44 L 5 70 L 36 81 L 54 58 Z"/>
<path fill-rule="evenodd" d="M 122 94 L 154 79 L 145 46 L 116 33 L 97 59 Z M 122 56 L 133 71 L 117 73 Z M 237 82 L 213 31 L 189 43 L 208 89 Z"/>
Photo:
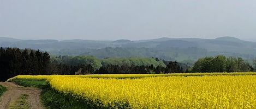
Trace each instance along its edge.
<path fill-rule="evenodd" d="M 10 102 L 8 109 L 29 109 L 28 96 L 27 94 L 21 94 L 17 100 Z"/>

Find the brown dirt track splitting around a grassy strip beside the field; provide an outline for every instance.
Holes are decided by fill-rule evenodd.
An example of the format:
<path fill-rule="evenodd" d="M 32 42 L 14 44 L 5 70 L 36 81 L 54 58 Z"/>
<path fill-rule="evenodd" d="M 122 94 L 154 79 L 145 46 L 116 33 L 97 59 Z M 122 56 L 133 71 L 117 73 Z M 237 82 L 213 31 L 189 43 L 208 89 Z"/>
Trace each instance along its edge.
<path fill-rule="evenodd" d="M 22 87 L 13 82 L 0 82 L 0 85 L 7 87 L 8 89 L 8 91 L 4 92 L 0 98 L 0 109 L 7 109 L 10 101 L 18 99 L 21 94 L 29 95 L 27 99 L 29 108 L 43 109 L 43 105 L 41 105 L 39 98 L 41 93 L 40 88 Z"/>

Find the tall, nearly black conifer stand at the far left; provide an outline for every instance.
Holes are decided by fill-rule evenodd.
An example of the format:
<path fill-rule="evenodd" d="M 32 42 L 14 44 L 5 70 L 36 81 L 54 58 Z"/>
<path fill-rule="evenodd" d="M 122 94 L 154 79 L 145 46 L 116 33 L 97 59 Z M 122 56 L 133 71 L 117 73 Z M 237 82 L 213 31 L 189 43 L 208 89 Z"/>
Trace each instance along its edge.
<path fill-rule="evenodd" d="M 50 56 L 39 50 L 0 48 L 0 80 L 20 74 L 47 74 Z"/>

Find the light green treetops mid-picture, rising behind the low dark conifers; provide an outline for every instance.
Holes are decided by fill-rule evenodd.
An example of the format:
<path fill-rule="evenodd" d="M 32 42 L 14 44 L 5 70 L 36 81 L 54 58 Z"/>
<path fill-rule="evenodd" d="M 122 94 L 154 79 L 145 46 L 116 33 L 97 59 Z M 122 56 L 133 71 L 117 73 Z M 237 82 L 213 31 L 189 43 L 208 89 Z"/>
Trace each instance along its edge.
<path fill-rule="evenodd" d="M 92 65 L 94 71 L 102 66 L 107 65 L 126 65 L 126 66 L 160 66 L 165 67 L 162 60 L 156 60 L 150 57 L 110 57 L 105 59 L 98 59 L 95 56 L 55 56 L 51 57 L 53 63 L 62 63 L 66 65 Z"/>

